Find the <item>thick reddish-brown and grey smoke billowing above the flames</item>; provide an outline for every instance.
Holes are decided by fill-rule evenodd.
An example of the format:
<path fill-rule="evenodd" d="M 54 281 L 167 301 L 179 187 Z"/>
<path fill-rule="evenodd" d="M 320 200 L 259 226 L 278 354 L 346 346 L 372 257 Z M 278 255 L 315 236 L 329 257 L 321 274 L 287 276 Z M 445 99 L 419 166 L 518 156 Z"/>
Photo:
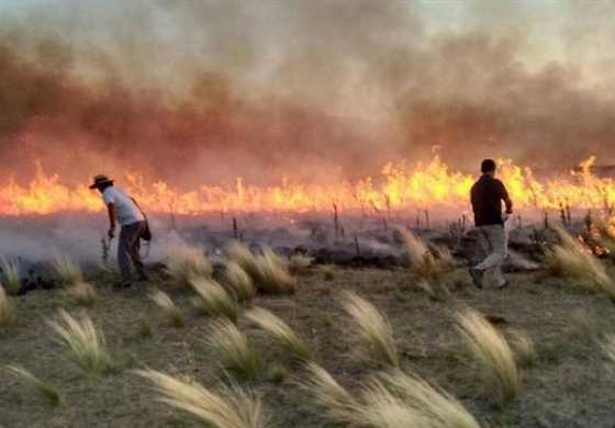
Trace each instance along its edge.
<path fill-rule="evenodd" d="M 182 188 L 238 176 L 332 181 L 434 146 L 460 168 L 485 156 L 540 167 L 590 155 L 615 161 L 615 102 L 601 79 L 608 61 L 580 55 L 603 30 L 572 25 L 578 8 L 562 7 L 563 32 L 577 42 L 568 59 L 545 61 L 532 47 L 543 40 L 519 30 L 529 15 L 477 4 L 466 24 L 438 31 L 421 3 L 398 1 L 63 1 L 7 11 L 1 174 L 26 180 L 38 159 L 69 182 L 99 171 Z"/>

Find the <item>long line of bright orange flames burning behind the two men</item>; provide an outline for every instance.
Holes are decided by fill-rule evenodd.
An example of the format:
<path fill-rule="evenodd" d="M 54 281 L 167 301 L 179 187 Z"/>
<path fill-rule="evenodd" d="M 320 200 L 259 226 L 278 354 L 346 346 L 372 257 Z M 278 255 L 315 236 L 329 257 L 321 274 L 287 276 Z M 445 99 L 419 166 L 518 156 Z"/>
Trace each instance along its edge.
<path fill-rule="evenodd" d="M 595 158 L 581 164 L 559 179 L 540 181 L 529 168 L 500 160 L 500 178 L 519 209 L 596 209 L 615 203 L 615 181 L 592 173 Z M 468 195 L 474 177 L 451 170 L 439 157 L 410 165 L 391 162 L 377 178 L 327 185 L 289 183 L 255 187 L 237 178 L 232 187 L 202 185 L 179 192 L 164 181 L 152 184 L 141 174 L 126 174 L 122 183 L 128 193 L 150 212 L 197 215 L 208 212 L 325 212 L 335 202 L 339 210 L 357 212 L 403 211 L 431 207 L 468 210 Z M 46 174 L 37 164 L 27 185 L 14 180 L 0 188 L 0 215 L 52 214 L 63 211 L 99 212 L 100 195 L 87 185 L 63 184 L 57 173 Z"/>

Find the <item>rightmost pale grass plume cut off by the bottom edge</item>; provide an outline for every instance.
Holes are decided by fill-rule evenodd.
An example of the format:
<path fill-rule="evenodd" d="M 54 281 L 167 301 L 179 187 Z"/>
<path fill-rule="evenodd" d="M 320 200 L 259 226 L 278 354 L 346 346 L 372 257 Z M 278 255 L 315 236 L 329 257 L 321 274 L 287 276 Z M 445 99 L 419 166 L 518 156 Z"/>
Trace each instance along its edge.
<path fill-rule="evenodd" d="M 417 427 L 480 428 L 474 417 L 452 395 L 416 374 L 401 370 L 382 373 L 382 382 L 399 394 L 424 423 Z"/>

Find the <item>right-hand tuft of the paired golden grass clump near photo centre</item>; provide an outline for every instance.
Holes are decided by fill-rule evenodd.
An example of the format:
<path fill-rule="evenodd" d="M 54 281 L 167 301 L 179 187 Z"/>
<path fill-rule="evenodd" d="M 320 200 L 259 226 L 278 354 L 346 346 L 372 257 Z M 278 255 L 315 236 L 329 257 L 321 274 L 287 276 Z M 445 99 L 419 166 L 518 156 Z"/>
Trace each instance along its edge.
<path fill-rule="evenodd" d="M 266 248 L 262 255 L 256 256 L 258 277 L 256 282 L 264 293 L 292 294 L 297 291 L 297 279 L 288 269 L 288 264 L 278 257 L 270 248 Z"/>

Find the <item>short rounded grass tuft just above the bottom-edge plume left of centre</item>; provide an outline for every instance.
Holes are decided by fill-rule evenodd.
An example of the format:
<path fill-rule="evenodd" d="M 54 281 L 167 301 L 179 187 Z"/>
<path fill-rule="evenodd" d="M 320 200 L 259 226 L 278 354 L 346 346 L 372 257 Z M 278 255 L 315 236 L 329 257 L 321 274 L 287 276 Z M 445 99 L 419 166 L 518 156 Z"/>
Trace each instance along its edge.
<path fill-rule="evenodd" d="M 238 379 L 256 378 L 260 368 L 258 352 L 235 324 L 220 319 L 212 324 L 208 343 L 215 350 L 224 370 Z"/>

